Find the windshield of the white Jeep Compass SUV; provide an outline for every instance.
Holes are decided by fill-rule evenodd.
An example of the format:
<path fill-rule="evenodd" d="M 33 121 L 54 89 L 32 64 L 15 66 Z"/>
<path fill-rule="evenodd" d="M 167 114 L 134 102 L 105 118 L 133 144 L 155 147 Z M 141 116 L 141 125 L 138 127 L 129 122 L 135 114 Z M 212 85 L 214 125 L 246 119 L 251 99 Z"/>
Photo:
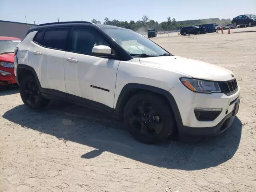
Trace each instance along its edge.
<path fill-rule="evenodd" d="M 131 56 L 143 57 L 170 55 L 163 48 L 149 40 L 148 38 L 132 31 L 114 28 L 105 28 L 106 33 L 113 38 Z"/>

